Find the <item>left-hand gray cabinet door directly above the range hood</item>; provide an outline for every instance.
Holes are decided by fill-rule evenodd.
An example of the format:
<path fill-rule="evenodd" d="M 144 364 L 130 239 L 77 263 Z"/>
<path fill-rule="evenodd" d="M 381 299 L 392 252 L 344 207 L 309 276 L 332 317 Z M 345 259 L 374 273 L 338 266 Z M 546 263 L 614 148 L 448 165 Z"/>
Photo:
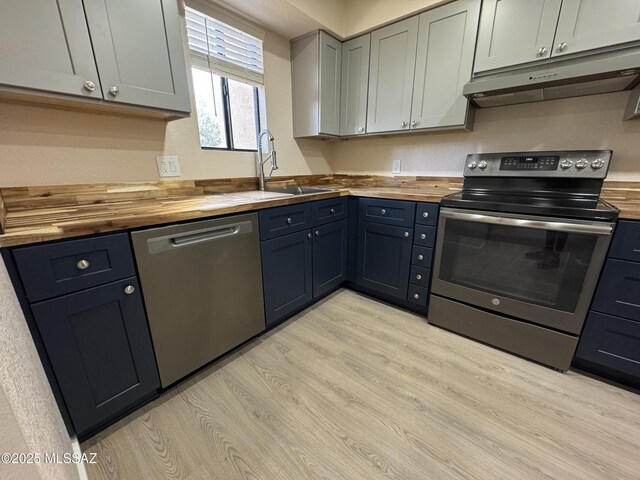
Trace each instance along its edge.
<path fill-rule="evenodd" d="M 549 58 L 561 0 L 484 0 L 474 72 Z"/>

